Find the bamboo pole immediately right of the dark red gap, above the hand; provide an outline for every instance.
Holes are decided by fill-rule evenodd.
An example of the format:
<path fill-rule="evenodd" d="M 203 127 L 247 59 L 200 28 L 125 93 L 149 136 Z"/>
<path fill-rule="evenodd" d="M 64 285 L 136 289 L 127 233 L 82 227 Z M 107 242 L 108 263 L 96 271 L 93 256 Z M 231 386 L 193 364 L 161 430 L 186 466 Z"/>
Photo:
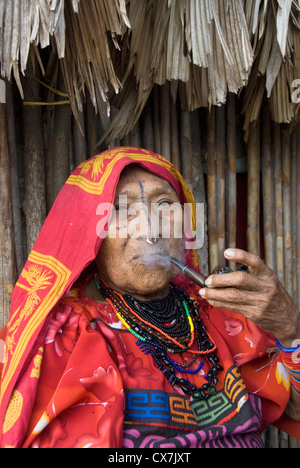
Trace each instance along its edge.
<path fill-rule="evenodd" d="M 259 212 L 260 212 L 260 142 L 259 121 L 251 125 L 248 141 L 248 213 L 247 249 L 260 254 Z"/>

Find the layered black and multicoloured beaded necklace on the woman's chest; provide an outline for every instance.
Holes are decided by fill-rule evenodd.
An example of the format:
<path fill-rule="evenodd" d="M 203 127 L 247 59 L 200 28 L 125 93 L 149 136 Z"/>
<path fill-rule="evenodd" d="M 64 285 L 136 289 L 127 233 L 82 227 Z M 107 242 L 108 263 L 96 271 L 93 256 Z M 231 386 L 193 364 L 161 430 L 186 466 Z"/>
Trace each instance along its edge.
<path fill-rule="evenodd" d="M 95 284 L 111 305 L 125 328 L 137 338 L 137 346 L 151 354 L 157 367 L 172 386 L 179 386 L 194 400 L 207 399 L 216 392 L 218 364 L 216 344 L 206 331 L 194 301 L 175 284 L 170 284 L 170 292 L 164 299 L 139 301 L 129 294 L 120 294 L 95 275 Z M 193 349 L 191 349 L 193 346 Z M 190 362 L 181 364 L 169 357 L 171 354 L 189 353 Z M 201 357 L 200 364 L 190 367 Z M 176 371 L 183 374 L 198 373 L 204 362 L 210 368 L 205 376 L 206 384 L 197 388 L 188 379 L 179 378 Z"/>

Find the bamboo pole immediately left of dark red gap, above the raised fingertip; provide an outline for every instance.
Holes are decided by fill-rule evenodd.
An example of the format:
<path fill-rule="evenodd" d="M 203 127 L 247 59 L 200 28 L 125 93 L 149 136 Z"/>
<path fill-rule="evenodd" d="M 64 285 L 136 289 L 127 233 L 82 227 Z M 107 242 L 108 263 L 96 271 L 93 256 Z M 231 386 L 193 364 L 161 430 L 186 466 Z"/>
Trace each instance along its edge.
<path fill-rule="evenodd" d="M 237 195 L 236 195 L 236 117 L 235 96 L 228 95 L 227 107 L 227 154 L 228 154 L 228 178 L 226 184 L 226 217 L 227 217 L 227 242 L 228 247 L 236 247 L 236 221 L 237 221 Z M 229 262 L 233 269 L 233 262 Z"/>

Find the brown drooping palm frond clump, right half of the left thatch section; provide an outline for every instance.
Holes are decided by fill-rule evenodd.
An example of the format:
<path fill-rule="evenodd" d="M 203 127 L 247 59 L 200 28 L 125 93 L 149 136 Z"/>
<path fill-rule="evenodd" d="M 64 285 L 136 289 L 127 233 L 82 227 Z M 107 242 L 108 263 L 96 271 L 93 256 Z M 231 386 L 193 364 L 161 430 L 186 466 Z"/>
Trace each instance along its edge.
<path fill-rule="evenodd" d="M 124 7 L 123 0 L 81 0 L 75 10 L 67 0 L 65 7 L 69 33 L 62 65 L 71 107 L 75 115 L 77 109 L 81 110 L 78 89 L 86 86 L 104 126 L 109 122 L 110 87 L 119 93 L 122 86 L 115 73 L 110 42 L 119 49 L 117 36 L 130 26 Z M 111 39 L 107 31 L 110 31 Z"/>

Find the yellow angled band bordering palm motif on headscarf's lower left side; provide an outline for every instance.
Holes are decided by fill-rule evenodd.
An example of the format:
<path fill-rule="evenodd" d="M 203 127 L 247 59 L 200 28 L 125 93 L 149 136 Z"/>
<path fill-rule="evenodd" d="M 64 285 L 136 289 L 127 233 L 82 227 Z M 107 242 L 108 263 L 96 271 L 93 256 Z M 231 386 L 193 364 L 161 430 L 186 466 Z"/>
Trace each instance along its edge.
<path fill-rule="evenodd" d="M 47 296 L 45 297 L 45 299 L 41 302 L 40 306 L 37 307 L 32 317 L 28 320 L 28 323 L 25 326 L 21 337 L 18 339 L 15 351 L 10 361 L 8 372 L 5 375 L 1 385 L 0 401 L 2 401 L 3 395 L 8 387 L 8 384 L 13 374 L 15 373 L 18 367 L 18 364 L 29 343 L 30 338 L 32 337 L 38 326 L 42 323 L 49 310 L 51 310 L 52 307 L 54 307 L 54 305 L 56 304 L 57 298 L 61 295 L 71 274 L 71 271 L 68 268 L 66 268 L 61 262 L 59 262 L 57 259 L 51 256 L 43 255 L 41 253 L 32 251 L 28 257 L 28 260 L 30 262 L 37 263 L 41 266 L 46 266 L 49 269 L 51 269 L 51 271 L 53 271 L 56 274 L 56 281 L 49 293 L 47 294 Z"/>

